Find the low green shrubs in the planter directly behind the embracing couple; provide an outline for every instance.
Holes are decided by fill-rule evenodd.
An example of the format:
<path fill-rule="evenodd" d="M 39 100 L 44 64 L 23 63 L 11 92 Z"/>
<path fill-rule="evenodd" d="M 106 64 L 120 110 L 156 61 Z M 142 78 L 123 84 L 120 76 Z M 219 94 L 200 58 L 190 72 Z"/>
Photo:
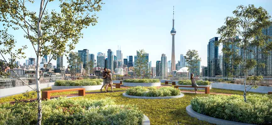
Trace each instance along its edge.
<path fill-rule="evenodd" d="M 101 85 L 102 79 L 58 80 L 55 86 L 94 86 Z"/>

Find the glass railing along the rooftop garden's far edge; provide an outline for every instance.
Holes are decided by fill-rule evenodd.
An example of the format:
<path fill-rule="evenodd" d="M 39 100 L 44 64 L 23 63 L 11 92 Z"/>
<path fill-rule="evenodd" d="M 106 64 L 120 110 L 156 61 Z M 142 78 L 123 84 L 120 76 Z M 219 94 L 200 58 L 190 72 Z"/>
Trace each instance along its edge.
<path fill-rule="evenodd" d="M 74 80 L 74 79 L 86 79 L 86 78 L 102 78 L 102 77 L 55 77 L 55 78 L 41 78 L 40 83 L 51 83 L 57 80 Z M 131 78 L 139 77 L 114 77 L 113 80 L 125 80 Z M 160 80 L 189 80 L 189 77 L 149 77 L 151 79 L 160 79 Z M 35 78 L 21 78 L 28 85 L 35 84 Z M 213 83 L 226 83 L 226 84 L 243 84 L 242 78 L 199 78 L 200 80 L 208 80 Z M 261 82 L 258 83 L 259 86 L 272 86 L 272 78 L 263 78 Z M 0 79 L 0 89 L 1 88 L 12 88 L 25 86 L 25 84 L 18 79 Z"/>

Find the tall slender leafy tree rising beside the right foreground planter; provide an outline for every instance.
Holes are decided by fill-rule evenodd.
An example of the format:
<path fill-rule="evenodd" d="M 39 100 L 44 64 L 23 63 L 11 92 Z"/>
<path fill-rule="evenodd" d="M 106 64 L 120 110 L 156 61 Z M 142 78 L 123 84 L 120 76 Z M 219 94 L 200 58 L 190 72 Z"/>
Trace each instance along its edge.
<path fill-rule="evenodd" d="M 240 74 L 243 75 L 243 97 L 247 102 L 247 83 L 258 83 L 262 79 L 262 76 L 256 75 L 254 71 L 257 66 L 264 67 L 264 63 L 257 62 L 257 53 L 269 54 L 271 52 L 272 44 L 268 42 L 269 36 L 262 33 L 264 28 L 272 24 L 271 16 L 264 8 L 256 8 L 254 5 L 240 5 L 232 13 L 234 16 L 226 17 L 225 25 L 217 30 L 217 33 L 220 34 L 218 44 L 230 45 L 233 44 L 231 42 L 235 42 L 235 45 L 239 47 L 240 55 L 236 55 L 231 60 L 234 65 L 239 66 Z M 234 37 L 238 38 L 230 41 Z M 231 55 L 231 51 L 231 49 L 225 49 L 223 53 Z M 249 74 L 253 76 L 248 76 Z"/>

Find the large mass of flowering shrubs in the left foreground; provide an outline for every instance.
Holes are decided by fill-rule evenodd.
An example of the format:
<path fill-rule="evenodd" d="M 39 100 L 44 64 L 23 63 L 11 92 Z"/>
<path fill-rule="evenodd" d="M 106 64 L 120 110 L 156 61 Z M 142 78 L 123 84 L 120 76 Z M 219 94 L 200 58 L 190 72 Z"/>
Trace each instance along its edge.
<path fill-rule="evenodd" d="M 37 103 L 0 105 L 1 125 L 35 125 Z M 116 105 L 110 98 L 59 98 L 43 101 L 43 125 L 141 125 L 144 115 L 136 106 Z"/>

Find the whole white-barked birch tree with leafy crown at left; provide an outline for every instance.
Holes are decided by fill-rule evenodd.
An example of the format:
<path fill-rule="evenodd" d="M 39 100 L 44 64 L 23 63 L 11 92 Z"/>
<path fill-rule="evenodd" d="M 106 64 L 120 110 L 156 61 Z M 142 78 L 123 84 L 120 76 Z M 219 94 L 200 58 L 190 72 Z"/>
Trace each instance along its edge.
<path fill-rule="evenodd" d="M 82 29 L 97 23 L 95 12 L 100 11 L 103 4 L 101 0 L 59 0 L 60 11 L 46 9 L 53 1 L 41 0 L 39 10 L 30 11 L 28 8 L 33 6 L 33 0 L 0 0 L 0 22 L 3 24 L 0 45 L 5 47 L 1 47 L 0 51 L 2 62 L 12 66 L 15 60 L 24 58 L 23 50 L 26 49 L 26 46 L 15 49 L 16 40 L 8 30 L 23 31 L 24 38 L 29 40 L 32 53 L 36 56 L 37 125 L 41 125 L 42 119 L 40 79 L 44 72 L 40 74 L 41 56 L 48 55 L 50 63 L 57 56 L 66 55 L 73 50 L 83 37 Z M 9 58 L 6 59 L 4 55 Z M 14 67 L 11 70 L 12 68 Z M 18 75 L 16 78 L 21 80 Z"/>

